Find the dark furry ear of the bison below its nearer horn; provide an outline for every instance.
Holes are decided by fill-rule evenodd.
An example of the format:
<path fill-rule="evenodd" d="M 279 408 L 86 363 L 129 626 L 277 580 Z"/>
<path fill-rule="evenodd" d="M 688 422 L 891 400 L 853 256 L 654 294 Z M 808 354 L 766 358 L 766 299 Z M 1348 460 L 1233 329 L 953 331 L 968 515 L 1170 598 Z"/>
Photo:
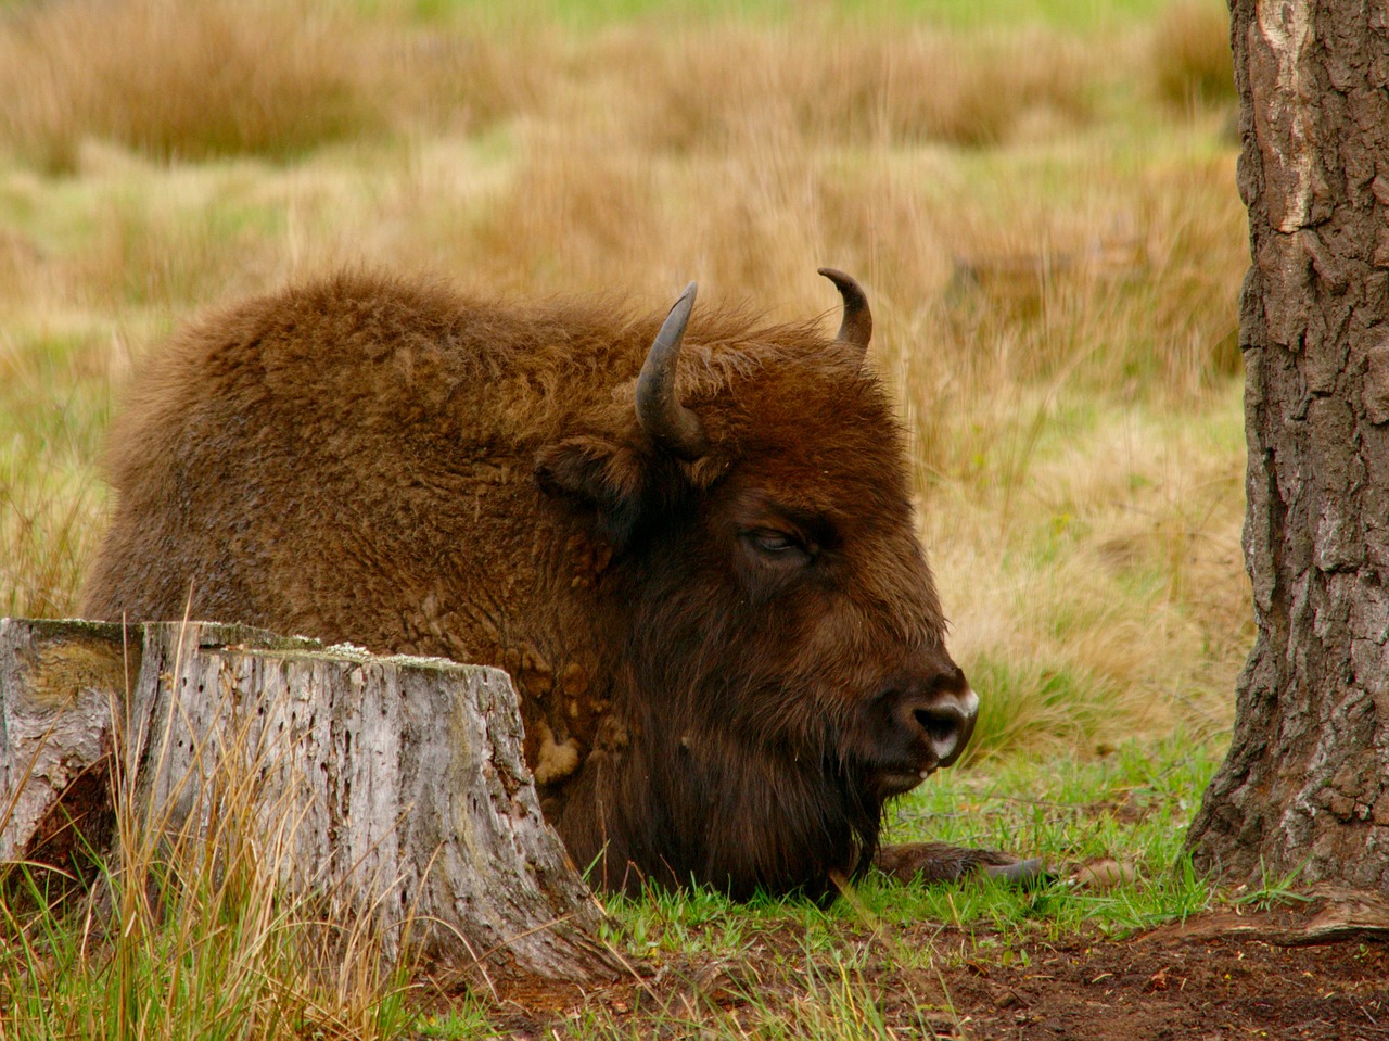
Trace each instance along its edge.
<path fill-rule="evenodd" d="M 621 549 L 642 513 L 644 468 L 636 452 L 603 438 L 569 438 L 535 460 L 540 491 L 594 514 L 596 531 Z"/>

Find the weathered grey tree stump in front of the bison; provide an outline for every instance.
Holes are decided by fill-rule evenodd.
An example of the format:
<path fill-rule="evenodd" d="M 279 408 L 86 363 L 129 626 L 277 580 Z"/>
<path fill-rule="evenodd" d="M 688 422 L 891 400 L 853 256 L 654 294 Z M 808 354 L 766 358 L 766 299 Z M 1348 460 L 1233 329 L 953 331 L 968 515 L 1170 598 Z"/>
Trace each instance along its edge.
<path fill-rule="evenodd" d="M 281 883 L 369 916 L 388 958 L 611 978 L 521 748 L 494 669 L 225 625 L 0 621 L 0 859 L 69 856 L 114 789 L 133 841 L 251 821 Z"/>

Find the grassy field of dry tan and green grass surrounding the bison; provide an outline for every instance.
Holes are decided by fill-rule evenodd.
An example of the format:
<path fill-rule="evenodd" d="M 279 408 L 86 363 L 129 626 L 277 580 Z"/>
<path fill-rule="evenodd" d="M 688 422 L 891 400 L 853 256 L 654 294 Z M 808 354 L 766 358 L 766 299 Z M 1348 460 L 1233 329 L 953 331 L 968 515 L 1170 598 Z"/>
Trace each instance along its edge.
<path fill-rule="evenodd" d="M 622 941 L 717 958 L 806 917 L 814 960 L 864 916 L 986 921 L 1007 946 L 1203 906 L 1182 828 L 1251 642 L 1218 0 L 501 7 L 0 3 L 0 614 L 74 612 L 114 403 L 201 307 L 354 264 L 507 295 L 621 288 L 651 310 L 699 278 L 701 300 L 832 322 L 832 264 L 870 292 L 983 698 L 968 762 L 901 802 L 893 838 L 1108 859 L 1121 881 L 1042 910 L 874 880 L 829 912 L 615 901 Z M 417 992 L 361 966 L 296 983 L 294 915 L 243 898 L 100 942 L 11 917 L 0 997 L 32 1024 L 14 1030 L 482 1030 L 474 1005 L 417 1019 Z M 283 956 L 236 976 L 246 940 L 224 920 Z M 149 1019 L 193 969 L 244 978 L 261 1012 Z"/>

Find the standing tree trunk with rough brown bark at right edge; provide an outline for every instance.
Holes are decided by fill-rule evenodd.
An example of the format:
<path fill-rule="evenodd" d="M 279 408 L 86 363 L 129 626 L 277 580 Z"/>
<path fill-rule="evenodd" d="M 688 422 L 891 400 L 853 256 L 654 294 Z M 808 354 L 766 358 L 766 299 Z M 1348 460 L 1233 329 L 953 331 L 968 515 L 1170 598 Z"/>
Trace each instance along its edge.
<path fill-rule="evenodd" d="M 1389 892 L 1389 11 L 1233 0 L 1258 635 L 1201 869 Z"/>

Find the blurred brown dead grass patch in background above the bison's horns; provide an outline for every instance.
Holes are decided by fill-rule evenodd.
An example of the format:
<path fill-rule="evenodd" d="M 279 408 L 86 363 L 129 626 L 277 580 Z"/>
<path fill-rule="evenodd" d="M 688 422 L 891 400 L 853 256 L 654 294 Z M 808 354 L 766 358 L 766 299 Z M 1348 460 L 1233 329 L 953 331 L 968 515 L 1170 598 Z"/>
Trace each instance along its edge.
<path fill-rule="evenodd" d="M 1042 29 L 963 44 L 925 26 L 814 18 L 704 28 L 657 47 L 649 33 L 621 32 L 594 57 L 632 136 L 676 153 L 747 147 L 785 129 L 836 149 L 997 145 L 1029 120 L 1082 124 L 1097 69 L 1078 42 Z"/>

